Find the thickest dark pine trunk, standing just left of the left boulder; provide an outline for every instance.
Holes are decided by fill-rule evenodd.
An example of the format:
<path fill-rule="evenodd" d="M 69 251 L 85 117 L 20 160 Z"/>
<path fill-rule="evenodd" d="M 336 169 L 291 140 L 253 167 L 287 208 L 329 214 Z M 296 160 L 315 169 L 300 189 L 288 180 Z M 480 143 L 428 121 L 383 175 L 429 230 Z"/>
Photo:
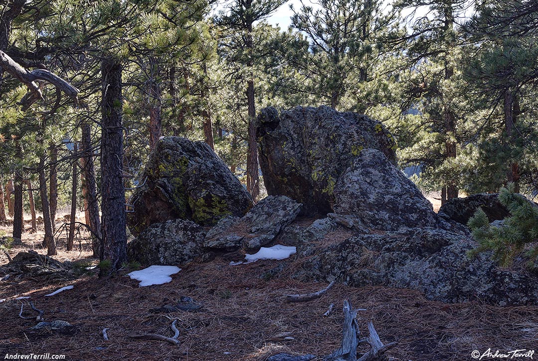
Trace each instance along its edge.
<path fill-rule="evenodd" d="M 103 261 L 100 276 L 117 271 L 127 261 L 125 191 L 123 187 L 122 67 L 114 59 L 102 63 L 101 186 Z"/>

